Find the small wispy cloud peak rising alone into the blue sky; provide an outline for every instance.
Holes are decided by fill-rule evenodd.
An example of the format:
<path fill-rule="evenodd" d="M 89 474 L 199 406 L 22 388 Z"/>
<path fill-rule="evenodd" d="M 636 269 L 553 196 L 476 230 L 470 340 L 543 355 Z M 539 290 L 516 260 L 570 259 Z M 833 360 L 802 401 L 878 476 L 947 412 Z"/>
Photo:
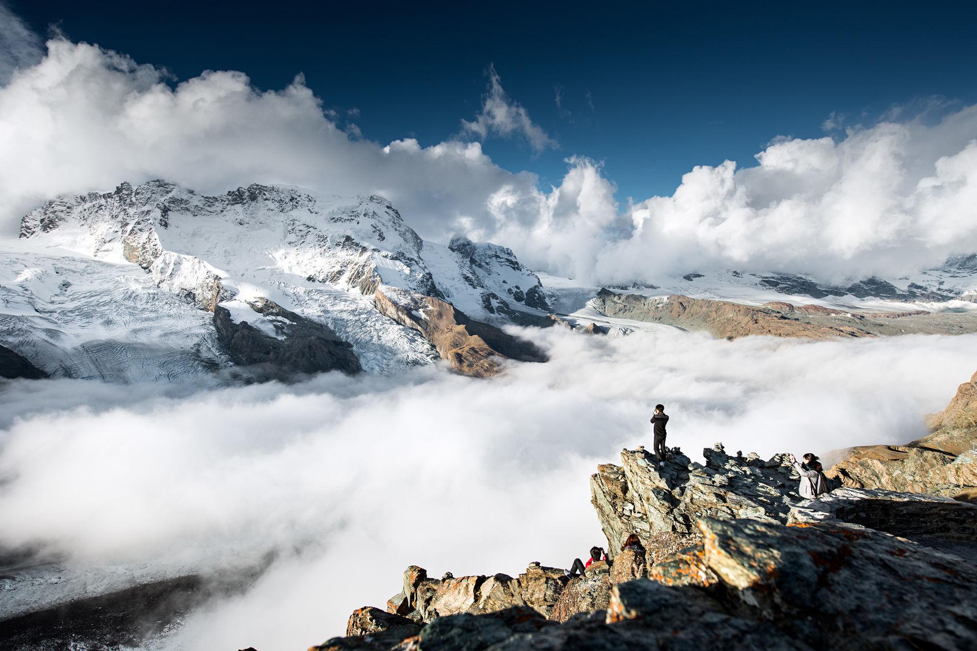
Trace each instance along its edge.
<path fill-rule="evenodd" d="M 530 119 L 530 112 L 512 100 L 494 65 L 488 65 L 488 92 L 482 99 L 482 110 L 472 121 L 461 120 L 462 132 L 486 140 L 489 137 L 526 139 L 533 152 L 560 149 L 560 144 Z M 560 107 L 561 91 L 557 90 L 556 104 Z"/>

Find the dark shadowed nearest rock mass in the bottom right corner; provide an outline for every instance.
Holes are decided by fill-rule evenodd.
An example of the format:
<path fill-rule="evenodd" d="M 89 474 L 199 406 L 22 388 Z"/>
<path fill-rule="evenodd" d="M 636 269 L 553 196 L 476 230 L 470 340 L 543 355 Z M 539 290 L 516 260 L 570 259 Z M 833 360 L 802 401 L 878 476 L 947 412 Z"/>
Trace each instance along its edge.
<path fill-rule="evenodd" d="M 906 505 L 949 504 L 886 499 L 883 492 L 852 493 L 838 501 L 858 508 L 860 499 L 872 502 L 869 510 L 881 513 L 877 509 L 883 508 L 907 524 L 913 518 L 901 515 Z M 683 552 L 683 558 L 668 561 L 672 567 L 697 567 L 700 574 L 694 580 L 616 584 L 606 609 L 578 613 L 562 624 L 530 610 L 463 613 L 438 618 L 393 645 L 389 639 L 365 635 L 335 638 L 313 648 L 631 651 L 732 644 L 749 650 L 828 646 L 963 651 L 977 644 L 977 569 L 972 564 L 857 524 L 805 517 L 804 509 L 792 510 L 789 526 L 702 517 L 701 542 Z M 840 513 L 838 508 L 832 512 Z M 526 626 L 516 629 L 509 624 L 514 620 Z"/>

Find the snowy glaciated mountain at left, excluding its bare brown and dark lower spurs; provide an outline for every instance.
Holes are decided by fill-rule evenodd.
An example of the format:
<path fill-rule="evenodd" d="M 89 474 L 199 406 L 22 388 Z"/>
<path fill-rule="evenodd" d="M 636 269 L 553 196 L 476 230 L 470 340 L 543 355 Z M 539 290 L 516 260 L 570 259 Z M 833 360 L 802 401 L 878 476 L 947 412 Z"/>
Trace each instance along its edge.
<path fill-rule="evenodd" d="M 20 235 L 3 245 L 0 343 L 54 376 L 205 376 L 235 361 L 229 337 L 250 337 L 254 352 L 255 339 L 274 348 L 312 324 L 318 339 L 352 344 L 367 371 L 436 360 L 423 328 L 377 311 L 377 291 L 433 297 L 494 325 L 548 311 L 511 250 L 424 241 L 377 195 L 252 185 L 205 196 L 123 183 L 47 201 Z M 209 313 L 223 310 L 247 324 L 243 335 L 215 329 Z"/>

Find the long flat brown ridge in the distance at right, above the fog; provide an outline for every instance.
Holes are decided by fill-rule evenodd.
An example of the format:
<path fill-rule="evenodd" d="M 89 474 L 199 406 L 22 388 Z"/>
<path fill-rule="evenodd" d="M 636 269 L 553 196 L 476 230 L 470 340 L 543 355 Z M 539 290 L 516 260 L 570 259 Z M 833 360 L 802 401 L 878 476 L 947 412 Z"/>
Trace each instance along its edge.
<path fill-rule="evenodd" d="M 752 306 L 676 294 L 667 298 L 619 294 L 610 289 L 601 289 L 590 305 L 609 317 L 706 330 L 728 339 L 754 334 L 832 339 L 912 332 L 960 334 L 977 330 L 977 317 L 969 313 L 842 311 L 817 305 L 794 306 L 783 301 Z"/>

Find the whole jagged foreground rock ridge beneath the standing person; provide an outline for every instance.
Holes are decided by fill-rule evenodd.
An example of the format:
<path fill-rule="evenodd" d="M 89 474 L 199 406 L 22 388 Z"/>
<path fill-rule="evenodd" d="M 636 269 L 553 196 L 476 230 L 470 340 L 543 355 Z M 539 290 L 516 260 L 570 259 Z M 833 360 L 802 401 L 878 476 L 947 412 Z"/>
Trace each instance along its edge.
<path fill-rule="evenodd" d="M 851 488 L 801 500 L 785 455 L 730 456 L 719 444 L 703 454 L 704 465 L 673 451 L 662 468 L 644 450 L 625 450 L 620 466 L 601 465 L 592 476 L 609 549 L 637 533 L 646 553 L 629 547 L 610 568 L 597 563 L 573 579 L 538 563 L 519 578 L 440 581 L 412 566 L 387 607 L 401 633 L 364 629 L 361 609 L 348 629 L 357 635 L 312 649 L 977 643 L 977 570 L 968 560 L 977 551 L 977 506 Z"/>

